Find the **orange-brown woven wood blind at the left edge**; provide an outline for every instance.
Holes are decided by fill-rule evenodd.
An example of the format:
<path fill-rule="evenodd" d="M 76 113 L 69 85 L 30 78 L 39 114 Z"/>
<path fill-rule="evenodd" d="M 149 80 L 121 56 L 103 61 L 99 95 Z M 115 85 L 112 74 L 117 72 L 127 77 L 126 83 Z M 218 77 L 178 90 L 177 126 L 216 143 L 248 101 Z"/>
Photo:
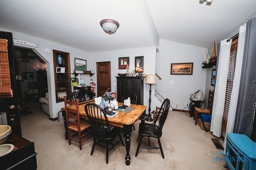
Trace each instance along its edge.
<path fill-rule="evenodd" d="M 6 39 L 0 39 L 0 98 L 13 97 L 7 44 Z"/>

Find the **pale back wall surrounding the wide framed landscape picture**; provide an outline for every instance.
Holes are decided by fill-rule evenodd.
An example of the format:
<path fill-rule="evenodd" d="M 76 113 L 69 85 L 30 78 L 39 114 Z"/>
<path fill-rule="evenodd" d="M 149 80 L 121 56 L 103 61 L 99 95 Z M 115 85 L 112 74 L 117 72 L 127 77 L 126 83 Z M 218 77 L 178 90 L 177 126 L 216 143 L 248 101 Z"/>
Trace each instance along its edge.
<path fill-rule="evenodd" d="M 206 69 L 202 69 L 205 48 L 178 42 L 160 40 L 160 51 L 156 57 L 156 73 L 162 78 L 157 81 L 156 90 L 171 101 L 177 109 L 190 103 L 190 94 L 198 89 L 205 91 Z M 193 62 L 193 75 L 170 75 L 171 63 Z M 174 84 L 171 84 L 171 81 Z M 186 108 L 185 110 L 189 110 Z"/>

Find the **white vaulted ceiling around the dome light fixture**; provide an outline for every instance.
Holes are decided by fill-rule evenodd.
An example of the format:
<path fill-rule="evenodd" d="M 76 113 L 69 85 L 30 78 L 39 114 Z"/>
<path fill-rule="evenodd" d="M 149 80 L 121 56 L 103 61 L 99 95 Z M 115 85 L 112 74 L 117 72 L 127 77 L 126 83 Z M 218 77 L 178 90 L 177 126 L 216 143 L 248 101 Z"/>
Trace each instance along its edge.
<path fill-rule="evenodd" d="M 0 28 L 88 52 L 159 39 L 209 48 L 255 12 L 256 0 L 1 0 Z M 115 34 L 102 30 L 103 19 L 119 22 Z"/>

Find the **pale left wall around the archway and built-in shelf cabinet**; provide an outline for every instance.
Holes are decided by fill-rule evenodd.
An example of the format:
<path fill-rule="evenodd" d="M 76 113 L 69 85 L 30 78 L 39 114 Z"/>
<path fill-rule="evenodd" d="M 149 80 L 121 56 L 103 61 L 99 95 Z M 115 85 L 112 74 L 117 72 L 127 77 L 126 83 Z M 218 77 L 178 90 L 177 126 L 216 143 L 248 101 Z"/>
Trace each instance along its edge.
<path fill-rule="evenodd" d="M 86 51 L 82 51 L 76 48 L 68 47 L 65 45 L 61 45 L 55 42 L 51 42 L 48 40 L 43 40 L 37 37 L 32 37 L 26 34 L 21 34 L 15 31 L 6 30 L 0 28 L 0 31 L 12 32 L 13 38 L 28 42 L 33 42 L 38 44 L 38 48 L 35 48 L 39 57 L 41 57 L 47 63 L 47 81 L 48 81 L 48 92 L 49 92 L 49 108 L 50 108 L 50 118 L 54 119 L 58 117 L 58 111 L 64 107 L 64 102 L 56 103 L 55 99 L 55 82 L 54 82 L 54 73 L 53 73 L 53 56 L 52 49 L 58 51 L 64 51 L 70 53 L 70 71 L 73 73 L 74 71 L 74 58 L 81 58 L 87 60 L 88 70 L 91 69 L 91 59 L 90 53 Z M 17 46 L 23 46 L 29 48 L 29 46 L 15 44 Z M 50 53 L 47 54 L 44 50 L 46 48 L 50 49 Z"/>

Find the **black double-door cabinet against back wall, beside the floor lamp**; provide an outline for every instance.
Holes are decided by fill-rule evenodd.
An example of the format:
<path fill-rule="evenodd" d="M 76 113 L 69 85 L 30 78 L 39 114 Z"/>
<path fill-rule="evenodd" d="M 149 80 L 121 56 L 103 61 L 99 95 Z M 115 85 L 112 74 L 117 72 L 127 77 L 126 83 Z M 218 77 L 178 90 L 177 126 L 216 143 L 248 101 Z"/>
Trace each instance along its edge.
<path fill-rule="evenodd" d="M 137 105 L 143 105 L 143 77 L 116 77 L 117 79 L 117 101 L 122 102 L 122 95 L 131 91 L 137 95 Z"/>

